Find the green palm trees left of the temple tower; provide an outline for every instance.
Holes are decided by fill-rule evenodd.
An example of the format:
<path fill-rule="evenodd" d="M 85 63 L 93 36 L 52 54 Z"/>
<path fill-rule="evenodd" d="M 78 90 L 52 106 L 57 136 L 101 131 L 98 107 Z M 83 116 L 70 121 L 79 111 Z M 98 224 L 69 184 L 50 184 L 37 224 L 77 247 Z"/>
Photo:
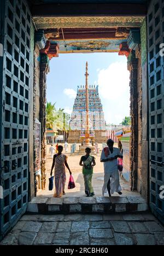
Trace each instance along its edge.
<path fill-rule="evenodd" d="M 47 102 L 46 104 L 46 129 L 61 131 L 69 130 L 69 114 L 64 113 L 64 109 L 56 110 L 55 104 Z"/>

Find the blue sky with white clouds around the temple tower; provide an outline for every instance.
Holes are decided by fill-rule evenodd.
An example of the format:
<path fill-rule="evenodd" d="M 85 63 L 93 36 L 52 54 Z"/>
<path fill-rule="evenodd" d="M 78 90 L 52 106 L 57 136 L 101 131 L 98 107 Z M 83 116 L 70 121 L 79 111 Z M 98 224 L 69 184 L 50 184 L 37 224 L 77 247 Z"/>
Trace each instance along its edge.
<path fill-rule="evenodd" d="M 107 124 L 120 124 L 130 116 L 130 73 L 127 59 L 118 53 L 60 54 L 50 61 L 47 101 L 71 114 L 77 86 L 85 85 L 88 62 L 89 84 L 99 86 Z"/>

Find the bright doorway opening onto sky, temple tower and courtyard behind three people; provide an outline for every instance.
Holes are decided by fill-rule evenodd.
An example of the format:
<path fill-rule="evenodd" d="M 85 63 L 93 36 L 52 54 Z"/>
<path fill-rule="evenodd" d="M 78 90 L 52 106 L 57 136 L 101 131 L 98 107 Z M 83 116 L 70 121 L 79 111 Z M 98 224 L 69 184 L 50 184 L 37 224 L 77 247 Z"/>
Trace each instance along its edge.
<path fill-rule="evenodd" d="M 37 196 L 52 197 L 54 194 L 54 191 L 48 189 L 52 166 L 52 156 L 49 150 L 50 147 L 54 147 L 55 154 L 56 144 L 63 146 L 63 153 L 68 156 L 68 164 L 76 184 L 75 189 L 67 189 L 69 172 L 66 169 L 66 195 L 63 197 L 85 195 L 84 178 L 79 161 L 81 155 L 84 155 L 84 153 L 81 154 L 80 147 L 84 139 L 85 127 L 83 124 L 86 122 L 86 113 L 84 112 L 84 119 L 79 113 L 84 107 L 81 98 L 85 97 L 86 61 L 89 63 L 89 91 L 92 91 L 94 98 L 93 100 L 90 98 L 91 114 L 95 115 L 98 111 L 98 115 L 101 114 L 97 130 L 93 116 L 90 117 L 90 135 L 94 133 L 93 146 L 96 147 L 97 144 L 94 153 L 96 166 L 92 178 L 95 195 L 102 196 L 104 169 L 100 162 L 100 156 L 103 147 L 107 146 L 107 139 L 112 138 L 115 142 L 114 147 L 118 147 L 118 142 L 121 141 L 124 149 L 124 170 L 120 173 L 122 196 L 138 196 L 138 191 L 132 193 L 130 188 L 131 120 L 126 123 L 126 117 L 130 117 L 130 72 L 127 70 L 126 56 L 119 56 L 118 53 L 61 54 L 59 58 L 50 61 L 50 73 L 47 75 L 46 82 L 46 106 L 50 108 L 54 105 L 54 115 L 58 119 L 55 119 L 54 124 L 50 124 L 50 120 L 46 123 L 46 185 L 44 190 L 38 191 Z M 62 75 L 63 71 L 65 71 L 65 75 Z M 54 76 L 55 72 L 58 74 L 57 77 Z M 99 109 L 93 110 L 97 106 Z M 77 111 L 78 109 L 79 111 Z M 68 152 L 64 147 L 65 141 L 68 142 Z M 74 145 L 75 148 L 72 151 Z M 118 193 L 114 193 L 114 195 L 118 196 Z"/>

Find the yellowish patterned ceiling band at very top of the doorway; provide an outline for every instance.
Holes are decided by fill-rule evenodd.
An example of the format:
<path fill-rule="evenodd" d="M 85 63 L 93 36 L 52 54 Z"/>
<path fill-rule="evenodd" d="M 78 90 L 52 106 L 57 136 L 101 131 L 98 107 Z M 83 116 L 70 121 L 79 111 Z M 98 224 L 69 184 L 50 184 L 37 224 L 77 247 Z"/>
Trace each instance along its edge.
<path fill-rule="evenodd" d="M 33 17 L 37 29 L 48 28 L 96 28 L 96 27 L 140 27 L 143 17 Z"/>

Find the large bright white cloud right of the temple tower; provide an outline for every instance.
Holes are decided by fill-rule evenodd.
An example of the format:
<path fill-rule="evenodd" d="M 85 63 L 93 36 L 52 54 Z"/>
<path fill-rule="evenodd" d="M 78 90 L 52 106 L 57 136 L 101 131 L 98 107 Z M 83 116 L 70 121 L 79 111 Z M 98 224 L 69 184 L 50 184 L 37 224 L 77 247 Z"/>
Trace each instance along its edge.
<path fill-rule="evenodd" d="M 119 124 L 130 115 L 129 82 L 126 62 L 114 62 L 98 72 L 99 95 L 107 123 Z"/>

